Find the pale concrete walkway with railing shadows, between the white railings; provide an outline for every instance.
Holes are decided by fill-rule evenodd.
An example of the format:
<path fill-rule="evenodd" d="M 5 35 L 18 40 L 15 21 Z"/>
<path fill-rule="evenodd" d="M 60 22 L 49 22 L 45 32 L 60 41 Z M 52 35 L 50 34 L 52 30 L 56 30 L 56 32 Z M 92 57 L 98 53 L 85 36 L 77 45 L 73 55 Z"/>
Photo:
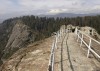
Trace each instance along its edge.
<path fill-rule="evenodd" d="M 62 37 L 55 50 L 54 71 L 100 71 L 100 62 L 87 58 L 87 49 L 79 47 L 79 43 L 74 33 Z"/>

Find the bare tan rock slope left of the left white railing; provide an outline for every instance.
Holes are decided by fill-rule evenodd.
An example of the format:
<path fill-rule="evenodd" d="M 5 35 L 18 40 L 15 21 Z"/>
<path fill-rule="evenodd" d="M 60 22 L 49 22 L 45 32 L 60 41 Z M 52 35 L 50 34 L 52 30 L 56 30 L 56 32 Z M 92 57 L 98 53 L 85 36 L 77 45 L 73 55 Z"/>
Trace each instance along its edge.
<path fill-rule="evenodd" d="M 53 37 L 29 44 L 13 54 L 0 71 L 47 71 Z"/>

